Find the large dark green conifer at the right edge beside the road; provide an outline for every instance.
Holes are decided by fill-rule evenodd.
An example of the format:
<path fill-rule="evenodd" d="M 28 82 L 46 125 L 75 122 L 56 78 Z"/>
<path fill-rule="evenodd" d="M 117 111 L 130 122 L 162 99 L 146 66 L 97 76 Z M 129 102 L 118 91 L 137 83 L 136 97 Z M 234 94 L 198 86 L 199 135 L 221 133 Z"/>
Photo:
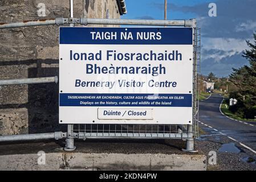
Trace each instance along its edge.
<path fill-rule="evenodd" d="M 230 81 L 237 87 L 230 93 L 230 98 L 236 98 L 238 104 L 230 107 L 231 111 L 239 113 L 245 118 L 254 118 L 256 115 L 256 34 L 254 44 L 246 41 L 249 50 L 245 50 L 243 57 L 249 60 L 249 65 L 234 69 Z"/>

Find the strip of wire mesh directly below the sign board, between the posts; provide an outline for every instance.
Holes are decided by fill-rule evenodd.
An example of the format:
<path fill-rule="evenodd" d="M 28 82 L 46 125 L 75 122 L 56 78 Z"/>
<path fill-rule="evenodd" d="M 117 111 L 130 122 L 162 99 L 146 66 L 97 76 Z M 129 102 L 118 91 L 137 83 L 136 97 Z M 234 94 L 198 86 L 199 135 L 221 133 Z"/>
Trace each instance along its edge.
<path fill-rule="evenodd" d="M 131 137 L 131 138 L 188 138 L 186 125 L 115 125 L 84 124 L 74 125 L 76 138 L 90 137 Z"/>

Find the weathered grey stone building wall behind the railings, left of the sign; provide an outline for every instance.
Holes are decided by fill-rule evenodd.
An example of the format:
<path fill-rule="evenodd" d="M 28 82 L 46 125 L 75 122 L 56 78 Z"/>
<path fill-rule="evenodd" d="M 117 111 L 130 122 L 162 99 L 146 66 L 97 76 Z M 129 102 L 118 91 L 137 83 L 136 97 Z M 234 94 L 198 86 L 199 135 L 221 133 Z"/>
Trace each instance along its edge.
<path fill-rule="evenodd" d="M 44 10 L 45 7 L 45 10 Z M 1 0 L 0 23 L 69 17 L 69 0 Z M 75 18 L 120 18 L 116 0 L 75 0 Z M 58 75 L 58 26 L 0 30 L 0 79 Z M 0 135 L 66 130 L 58 84 L 0 86 Z"/>

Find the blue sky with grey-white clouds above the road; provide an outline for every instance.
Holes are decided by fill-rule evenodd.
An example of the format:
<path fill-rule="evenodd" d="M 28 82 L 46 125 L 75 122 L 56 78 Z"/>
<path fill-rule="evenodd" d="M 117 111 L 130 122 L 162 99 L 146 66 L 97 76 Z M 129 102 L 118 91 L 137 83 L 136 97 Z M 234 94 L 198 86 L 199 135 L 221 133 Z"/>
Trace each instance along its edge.
<path fill-rule="evenodd" d="M 242 57 L 256 32 L 256 0 L 167 0 L 167 19 L 197 19 L 201 28 L 201 73 L 227 77 L 249 62 Z M 125 0 L 122 19 L 164 19 L 164 0 Z M 209 3 L 217 16 L 210 17 Z"/>

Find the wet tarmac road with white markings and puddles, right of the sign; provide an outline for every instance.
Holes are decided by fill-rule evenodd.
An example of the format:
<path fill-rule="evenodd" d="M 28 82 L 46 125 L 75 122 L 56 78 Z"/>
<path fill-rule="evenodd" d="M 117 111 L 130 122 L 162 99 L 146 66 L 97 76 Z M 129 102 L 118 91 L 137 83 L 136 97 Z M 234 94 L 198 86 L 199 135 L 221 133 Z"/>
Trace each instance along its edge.
<path fill-rule="evenodd" d="M 220 94 L 214 93 L 207 100 L 200 101 L 199 126 L 206 134 L 202 134 L 196 141 L 197 148 L 205 152 L 209 152 L 209 148 L 216 150 L 217 155 L 220 154 L 224 169 L 230 167 L 255 170 L 256 122 L 227 118 L 220 111 L 222 99 Z M 204 146 L 205 144 L 208 148 Z M 250 166 L 240 165 L 242 161 L 250 163 Z M 238 168 L 238 166 L 243 167 Z"/>

